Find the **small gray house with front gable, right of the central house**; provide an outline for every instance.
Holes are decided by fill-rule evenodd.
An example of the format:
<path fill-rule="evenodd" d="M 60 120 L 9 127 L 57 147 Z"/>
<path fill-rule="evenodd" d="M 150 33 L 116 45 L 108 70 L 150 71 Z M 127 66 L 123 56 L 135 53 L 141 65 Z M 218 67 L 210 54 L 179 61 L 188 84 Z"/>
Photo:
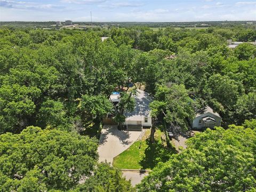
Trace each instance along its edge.
<path fill-rule="evenodd" d="M 205 129 L 207 127 L 213 128 L 214 126 L 220 126 L 221 117 L 218 113 L 214 112 L 209 106 L 198 111 L 193 121 L 193 129 Z"/>

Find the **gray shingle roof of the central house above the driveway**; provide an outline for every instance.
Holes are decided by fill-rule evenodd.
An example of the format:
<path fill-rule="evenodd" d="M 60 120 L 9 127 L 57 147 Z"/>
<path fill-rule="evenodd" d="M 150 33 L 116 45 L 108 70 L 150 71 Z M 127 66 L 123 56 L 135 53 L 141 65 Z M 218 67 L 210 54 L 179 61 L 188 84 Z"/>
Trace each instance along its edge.
<path fill-rule="evenodd" d="M 134 95 L 135 108 L 132 113 L 126 112 L 125 116 L 127 120 L 141 121 L 142 117 L 150 116 L 149 103 L 152 101 L 149 93 L 137 89 L 137 94 Z"/>

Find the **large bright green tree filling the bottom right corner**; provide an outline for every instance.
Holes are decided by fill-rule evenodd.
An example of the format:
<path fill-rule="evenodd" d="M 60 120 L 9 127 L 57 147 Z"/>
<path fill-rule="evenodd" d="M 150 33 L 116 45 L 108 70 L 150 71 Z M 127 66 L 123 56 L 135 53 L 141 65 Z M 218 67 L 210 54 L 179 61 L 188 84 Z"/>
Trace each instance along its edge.
<path fill-rule="evenodd" d="M 138 191 L 254 191 L 255 131 L 232 125 L 207 129 L 188 148 L 159 163 Z"/>

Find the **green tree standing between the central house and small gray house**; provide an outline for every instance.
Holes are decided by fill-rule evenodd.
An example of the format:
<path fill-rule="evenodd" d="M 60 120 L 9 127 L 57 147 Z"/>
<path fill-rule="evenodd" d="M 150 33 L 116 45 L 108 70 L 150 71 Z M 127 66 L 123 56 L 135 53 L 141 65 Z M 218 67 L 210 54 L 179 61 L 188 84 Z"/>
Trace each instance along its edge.
<path fill-rule="evenodd" d="M 166 138 L 169 138 L 167 130 L 174 133 L 187 130 L 194 117 L 194 101 L 184 85 L 158 86 L 150 108 L 154 118 L 163 119 Z"/>

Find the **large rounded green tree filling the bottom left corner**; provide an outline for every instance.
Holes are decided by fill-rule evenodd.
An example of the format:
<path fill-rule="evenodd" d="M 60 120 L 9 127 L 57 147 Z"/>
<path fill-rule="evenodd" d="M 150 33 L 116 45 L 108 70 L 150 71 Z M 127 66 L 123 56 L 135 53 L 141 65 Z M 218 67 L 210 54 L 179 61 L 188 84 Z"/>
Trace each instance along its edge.
<path fill-rule="evenodd" d="M 68 190 L 90 177 L 97 141 L 76 133 L 30 126 L 0 135 L 0 190 Z"/>

